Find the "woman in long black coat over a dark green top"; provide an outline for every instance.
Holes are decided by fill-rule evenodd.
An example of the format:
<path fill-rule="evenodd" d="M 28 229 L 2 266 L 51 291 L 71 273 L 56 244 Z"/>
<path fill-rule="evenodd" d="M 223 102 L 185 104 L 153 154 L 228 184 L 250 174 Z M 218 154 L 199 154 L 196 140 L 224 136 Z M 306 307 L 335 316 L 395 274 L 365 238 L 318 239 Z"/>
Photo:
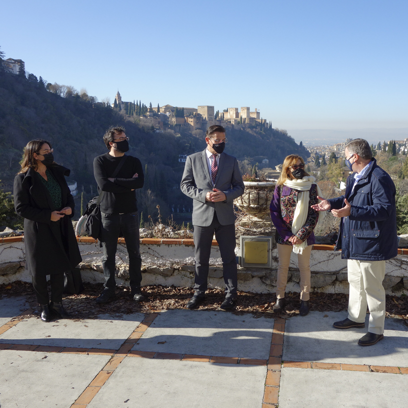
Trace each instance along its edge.
<path fill-rule="evenodd" d="M 62 306 L 63 273 L 81 261 L 70 220 L 74 202 L 64 177 L 69 170 L 54 162 L 52 151 L 46 140 L 27 143 L 13 191 L 15 212 L 24 217 L 25 268 L 32 276 L 42 321 L 50 321 L 51 314 L 69 317 Z"/>

